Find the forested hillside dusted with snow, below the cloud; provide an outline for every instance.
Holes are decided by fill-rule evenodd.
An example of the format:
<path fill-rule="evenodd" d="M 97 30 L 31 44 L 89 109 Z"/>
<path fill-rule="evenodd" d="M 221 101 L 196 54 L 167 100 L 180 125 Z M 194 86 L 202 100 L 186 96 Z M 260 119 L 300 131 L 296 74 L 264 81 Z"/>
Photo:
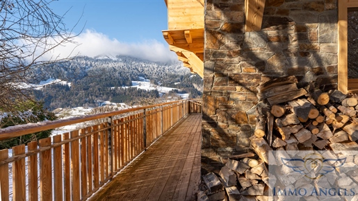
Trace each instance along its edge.
<path fill-rule="evenodd" d="M 70 82 L 69 85 L 53 84 L 33 90 L 44 107 L 54 110 L 58 107 L 96 107 L 98 101 L 129 103 L 139 98 L 158 98 L 156 90 L 146 91 L 131 86 L 131 81 L 146 78 L 162 87 L 180 89 L 190 98 L 202 96 L 202 78 L 190 73 L 181 63 L 163 64 L 137 58 L 117 56 L 116 58 L 79 57 L 69 62 L 44 66 L 31 71 L 33 83 L 49 78 Z M 174 92 L 174 91 L 173 91 Z M 178 92 L 178 91 L 175 91 Z"/>

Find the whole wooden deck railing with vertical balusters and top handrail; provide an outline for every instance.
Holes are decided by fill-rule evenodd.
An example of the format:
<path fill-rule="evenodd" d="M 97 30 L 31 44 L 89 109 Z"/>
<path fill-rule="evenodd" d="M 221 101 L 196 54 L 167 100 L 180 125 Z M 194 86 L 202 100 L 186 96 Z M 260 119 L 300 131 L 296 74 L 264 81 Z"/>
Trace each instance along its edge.
<path fill-rule="evenodd" d="M 86 200 L 181 119 L 201 111 L 200 100 L 181 100 L 2 129 L 0 140 L 104 122 L 0 150 L 0 200 Z"/>

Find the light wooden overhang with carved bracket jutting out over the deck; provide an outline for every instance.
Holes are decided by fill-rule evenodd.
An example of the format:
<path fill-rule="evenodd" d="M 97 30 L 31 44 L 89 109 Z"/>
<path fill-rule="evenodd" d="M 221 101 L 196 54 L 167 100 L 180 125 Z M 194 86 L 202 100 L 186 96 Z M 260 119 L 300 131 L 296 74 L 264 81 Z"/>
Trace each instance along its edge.
<path fill-rule="evenodd" d="M 204 78 L 204 0 L 165 0 L 165 4 L 165 41 L 185 67 Z"/>

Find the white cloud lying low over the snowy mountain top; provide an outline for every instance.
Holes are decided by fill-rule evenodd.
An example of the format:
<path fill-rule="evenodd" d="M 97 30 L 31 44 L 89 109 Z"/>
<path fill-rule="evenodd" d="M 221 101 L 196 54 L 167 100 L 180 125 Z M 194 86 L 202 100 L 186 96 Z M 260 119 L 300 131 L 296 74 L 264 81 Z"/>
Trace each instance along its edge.
<path fill-rule="evenodd" d="M 74 37 L 77 44 L 67 43 L 56 47 L 42 57 L 49 60 L 51 58 L 65 58 L 71 54 L 86 55 L 96 57 L 98 55 L 128 55 L 142 58 L 153 62 L 176 61 L 177 55 L 169 50 L 168 46 L 156 40 L 149 40 L 138 43 L 125 43 L 116 39 L 110 39 L 103 33 L 95 30 L 85 30 L 80 35 Z"/>

